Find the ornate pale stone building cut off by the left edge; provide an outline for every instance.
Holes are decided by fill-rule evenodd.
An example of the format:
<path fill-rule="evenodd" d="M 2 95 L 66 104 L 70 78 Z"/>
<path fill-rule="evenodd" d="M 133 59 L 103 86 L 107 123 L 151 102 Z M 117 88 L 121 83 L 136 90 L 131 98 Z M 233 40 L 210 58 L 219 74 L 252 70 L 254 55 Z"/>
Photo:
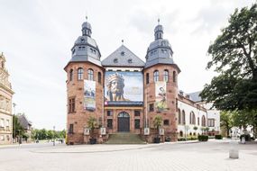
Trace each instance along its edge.
<path fill-rule="evenodd" d="M 13 139 L 12 96 L 14 94 L 8 80 L 5 56 L 0 54 L 0 144 L 11 144 Z"/>

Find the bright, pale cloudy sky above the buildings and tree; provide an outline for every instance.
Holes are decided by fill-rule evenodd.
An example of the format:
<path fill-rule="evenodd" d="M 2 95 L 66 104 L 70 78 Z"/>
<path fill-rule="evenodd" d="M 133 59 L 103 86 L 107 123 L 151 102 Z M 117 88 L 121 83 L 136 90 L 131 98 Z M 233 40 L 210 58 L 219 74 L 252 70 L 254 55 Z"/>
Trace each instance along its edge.
<path fill-rule="evenodd" d="M 164 39 L 181 69 L 179 89 L 200 91 L 216 75 L 206 70 L 208 46 L 228 24 L 235 8 L 255 0 L 0 0 L 0 52 L 15 92 L 15 112 L 33 128 L 63 130 L 67 119 L 67 75 L 81 24 L 106 58 L 122 45 L 145 61 L 158 18 Z M 14 109 L 13 109 L 14 112 Z"/>

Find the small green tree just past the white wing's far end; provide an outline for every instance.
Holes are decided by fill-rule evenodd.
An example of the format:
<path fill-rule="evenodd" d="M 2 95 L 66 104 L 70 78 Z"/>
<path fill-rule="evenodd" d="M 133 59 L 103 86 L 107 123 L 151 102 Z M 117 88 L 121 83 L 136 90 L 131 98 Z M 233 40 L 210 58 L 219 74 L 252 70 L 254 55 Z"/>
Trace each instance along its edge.
<path fill-rule="evenodd" d="M 229 130 L 234 126 L 232 117 L 233 112 L 220 112 L 220 126 L 225 128 L 226 136 L 229 136 Z"/>

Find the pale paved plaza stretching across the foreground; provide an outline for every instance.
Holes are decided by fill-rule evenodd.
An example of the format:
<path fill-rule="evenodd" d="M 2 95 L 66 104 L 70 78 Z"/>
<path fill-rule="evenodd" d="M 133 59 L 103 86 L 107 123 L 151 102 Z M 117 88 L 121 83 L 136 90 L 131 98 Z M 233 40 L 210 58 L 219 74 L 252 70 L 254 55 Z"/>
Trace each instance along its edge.
<path fill-rule="evenodd" d="M 0 146 L 0 171 L 256 171 L 257 143 L 236 145 L 239 159 L 230 159 L 229 141 Z"/>

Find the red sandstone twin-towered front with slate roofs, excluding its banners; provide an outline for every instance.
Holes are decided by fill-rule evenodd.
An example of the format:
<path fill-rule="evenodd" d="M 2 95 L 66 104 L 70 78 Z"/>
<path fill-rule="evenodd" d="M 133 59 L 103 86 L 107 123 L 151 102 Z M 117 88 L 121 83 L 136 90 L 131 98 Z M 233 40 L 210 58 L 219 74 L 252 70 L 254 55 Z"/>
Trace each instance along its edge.
<path fill-rule="evenodd" d="M 83 36 L 78 37 L 72 48 L 72 59 L 64 68 L 67 72 L 68 95 L 67 143 L 89 143 L 90 136 L 87 132 L 87 121 L 90 116 L 96 118 L 98 129 L 94 130 L 94 135 L 97 143 L 105 142 L 109 134 L 117 133 L 121 130 L 139 134 L 142 139 L 152 142 L 157 134 L 157 130 L 155 130 L 153 125 L 153 120 L 157 115 L 160 115 L 162 118 L 161 129 L 164 130 L 161 140 L 164 141 L 164 139 L 168 138 L 171 141 L 177 141 L 178 75 L 180 70 L 173 62 L 173 51 L 169 41 L 162 40 L 162 26 L 158 25 L 155 28 L 155 41 L 151 43 L 148 49 L 145 64 L 133 52 L 125 48 L 124 45 L 101 63 L 100 51 L 96 46 L 95 40 L 91 39 L 91 25 L 89 23 L 83 23 L 82 33 Z M 156 62 L 157 60 L 158 62 Z M 119 63 L 120 61 L 122 63 Z M 142 63 L 142 65 L 140 66 L 139 63 Z M 81 68 L 83 70 L 82 75 Z M 78 71 L 79 69 L 80 71 Z M 93 77 L 89 76 L 89 70 L 93 71 Z M 124 102 L 124 105 L 109 105 L 106 103 L 105 76 L 108 71 L 141 73 L 142 103 L 127 104 L 127 102 Z M 156 71 L 159 73 L 158 78 L 154 76 Z M 164 71 L 166 76 L 168 73 L 168 77 L 165 78 L 166 80 L 164 80 Z M 85 109 L 84 80 L 96 82 L 95 110 Z M 156 106 L 154 106 L 156 103 L 156 81 L 165 82 L 166 84 L 167 108 L 164 111 L 158 111 Z M 122 115 L 127 119 L 120 119 L 119 117 Z M 122 125 L 127 123 L 128 125 L 125 127 Z M 106 132 L 101 132 L 101 128 L 106 130 Z M 149 135 L 144 133 L 145 128 L 150 129 Z"/>

